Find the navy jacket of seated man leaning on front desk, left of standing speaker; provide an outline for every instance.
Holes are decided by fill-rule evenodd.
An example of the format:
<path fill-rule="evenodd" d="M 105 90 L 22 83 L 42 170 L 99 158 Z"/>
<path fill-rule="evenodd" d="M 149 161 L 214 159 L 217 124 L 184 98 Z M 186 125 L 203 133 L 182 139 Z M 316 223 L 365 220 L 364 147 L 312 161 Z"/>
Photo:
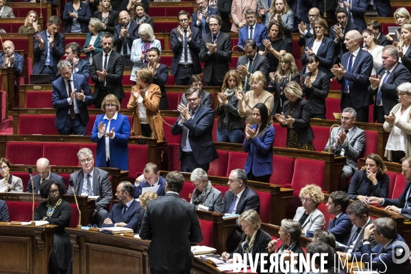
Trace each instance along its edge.
<path fill-rule="evenodd" d="M 125 212 L 123 212 L 123 207 L 123 203 L 114 204 L 112 210 L 107 216 L 107 218 L 110 219 L 112 223 L 103 223 L 101 227 L 114 227 L 116 223 L 127 223 L 125 227 L 133 229 L 134 233 L 138 233 L 137 225 L 138 221 L 140 220 L 140 203 L 133 199 L 129 208 L 127 208 Z"/>

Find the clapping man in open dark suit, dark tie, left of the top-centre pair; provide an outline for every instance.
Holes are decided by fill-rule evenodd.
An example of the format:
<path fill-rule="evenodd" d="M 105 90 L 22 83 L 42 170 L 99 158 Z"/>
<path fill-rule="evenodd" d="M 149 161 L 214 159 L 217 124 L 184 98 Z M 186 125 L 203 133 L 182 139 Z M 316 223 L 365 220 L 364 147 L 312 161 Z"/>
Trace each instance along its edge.
<path fill-rule="evenodd" d="M 185 10 L 178 13 L 179 26 L 171 30 L 171 74 L 174 75 L 177 86 L 188 86 L 190 77 L 200 74 L 199 53 L 201 50 L 201 31 L 190 26 L 190 14 Z"/>

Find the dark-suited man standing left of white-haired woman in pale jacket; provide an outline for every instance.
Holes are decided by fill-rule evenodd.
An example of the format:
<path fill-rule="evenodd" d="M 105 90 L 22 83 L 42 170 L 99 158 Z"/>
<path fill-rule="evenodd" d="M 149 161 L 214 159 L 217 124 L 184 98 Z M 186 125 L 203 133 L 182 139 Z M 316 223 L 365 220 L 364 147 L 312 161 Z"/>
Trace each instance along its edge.
<path fill-rule="evenodd" d="M 134 66 L 130 60 L 133 41 L 140 38 L 138 34 L 139 25 L 132 21 L 129 13 L 125 10 L 120 12 L 119 19 L 121 24 L 114 27 L 114 46 L 117 47 L 117 53 L 120 53 L 124 60 L 124 66 Z"/>

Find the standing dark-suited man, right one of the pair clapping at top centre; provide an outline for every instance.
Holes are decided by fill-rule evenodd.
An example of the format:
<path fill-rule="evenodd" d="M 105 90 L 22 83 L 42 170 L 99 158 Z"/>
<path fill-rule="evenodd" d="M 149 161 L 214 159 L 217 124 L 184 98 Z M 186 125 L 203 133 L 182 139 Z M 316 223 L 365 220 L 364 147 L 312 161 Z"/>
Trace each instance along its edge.
<path fill-rule="evenodd" d="M 206 62 L 203 77 L 208 86 L 221 86 L 225 73 L 229 70 L 228 64 L 231 62 L 231 38 L 228 34 L 220 32 L 220 16 L 210 16 L 209 24 L 211 33 L 203 36 L 200 51 L 200 61 Z"/>

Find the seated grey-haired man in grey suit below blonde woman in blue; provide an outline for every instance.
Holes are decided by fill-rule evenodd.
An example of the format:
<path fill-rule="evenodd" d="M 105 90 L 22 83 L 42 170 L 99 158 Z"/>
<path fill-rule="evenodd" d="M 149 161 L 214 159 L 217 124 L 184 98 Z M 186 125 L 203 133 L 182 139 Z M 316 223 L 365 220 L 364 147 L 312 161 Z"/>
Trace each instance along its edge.
<path fill-rule="evenodd" d="M 110 206 L 113 197 L 109 179 L 110 174 L 94 167 L 94 158 L 90 149 L 86 147 L 80 149 L 77 157 L 82 169 L 70 175 L 70 179 L 74 184 L 75 195 L 98 196 L 91 222 L 101 227 L 108 216 L 108 206 Z M 73 195 L 71 188 L 67 190 L 67 195 Z"/>

